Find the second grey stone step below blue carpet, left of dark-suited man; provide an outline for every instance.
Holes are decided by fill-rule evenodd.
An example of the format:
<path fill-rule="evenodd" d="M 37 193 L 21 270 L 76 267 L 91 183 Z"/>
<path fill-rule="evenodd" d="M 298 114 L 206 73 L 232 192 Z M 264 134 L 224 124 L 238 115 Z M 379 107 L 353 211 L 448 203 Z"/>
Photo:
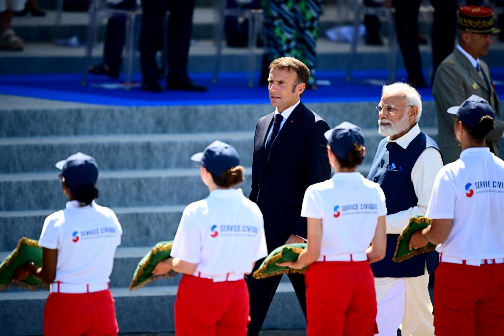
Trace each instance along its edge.
<path fill-rule="evenodd" d="M 194 169 L 191 160 L 215 140 L 233 145 L 251 166 L 254 132 L 10 138 L 0 141 L 0 174 L 53 173 L 54 163 L 78 151 L 92 155 L 100 172 Z M 31 153 L 26 155 L 26 153 Z"/>

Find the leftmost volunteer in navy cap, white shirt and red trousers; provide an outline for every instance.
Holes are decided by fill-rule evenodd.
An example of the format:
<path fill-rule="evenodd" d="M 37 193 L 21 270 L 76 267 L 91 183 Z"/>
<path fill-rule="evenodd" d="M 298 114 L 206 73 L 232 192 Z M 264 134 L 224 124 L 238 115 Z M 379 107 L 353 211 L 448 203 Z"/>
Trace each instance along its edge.
<path fill-rule="evenodd" d="M 65 210 L 49 215 L 39 245 L 42 265 L 19 267 L 15 279 L 30 273 L 50 284 L 44 309 L 44 335 L 116 335 L 114 299 L 109 291 L 121 226 L 114 212 L 99 206 L 98 164 L 81 152 L 56 163 Z"/>

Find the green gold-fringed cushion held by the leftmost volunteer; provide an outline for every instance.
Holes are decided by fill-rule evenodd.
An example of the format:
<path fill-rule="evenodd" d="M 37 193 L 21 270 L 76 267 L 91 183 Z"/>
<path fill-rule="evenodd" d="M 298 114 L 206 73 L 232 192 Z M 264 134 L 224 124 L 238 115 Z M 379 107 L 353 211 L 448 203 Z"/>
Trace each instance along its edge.
<path fill-rule="evenodd" d="M 38 241 L 23 237 L 19 240 L 16 249 L 14 249 L 14 251 L 12 251 L 0 264 L 0 291 L 11 286 L 26 288 L 30 291 L 49 289 L 49 285 L 31 274 L 23 281 L 12 281 L 16 269 L 19 266 L 23 266 L 28 261 L 33 261 L 37 265 L 42 265 L 42 248 L 38 245 Z"/>

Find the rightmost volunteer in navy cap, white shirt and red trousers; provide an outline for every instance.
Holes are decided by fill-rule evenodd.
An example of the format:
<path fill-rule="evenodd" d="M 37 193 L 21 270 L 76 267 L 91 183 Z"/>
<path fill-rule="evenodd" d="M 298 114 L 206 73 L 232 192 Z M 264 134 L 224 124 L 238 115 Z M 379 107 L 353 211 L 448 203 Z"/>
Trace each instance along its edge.
<path fill-rule="evenodd" d="M 437 174 L 426 216 L 432 224 L 412 235 L 410 249 L 437 244 L 434 331 L 445 335 L 504 332 L 504 161 L 485 144 L 495 116 L 472 95 L 448 109 L 456 115 L 460 158 Z"/>

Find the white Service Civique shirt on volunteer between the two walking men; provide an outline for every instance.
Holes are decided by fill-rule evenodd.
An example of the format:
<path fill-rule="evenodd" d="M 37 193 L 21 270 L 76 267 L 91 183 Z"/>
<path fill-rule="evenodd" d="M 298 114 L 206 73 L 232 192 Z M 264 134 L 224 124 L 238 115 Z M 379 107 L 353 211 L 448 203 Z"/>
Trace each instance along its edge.
<path fill-rule="evenodd" d="M 336 173 L 306 189 L 301 216 L 322 219 L 321 255 L 364 252 L 378 217 L 387 214 L 385 194 L 360 173 Z"/>

